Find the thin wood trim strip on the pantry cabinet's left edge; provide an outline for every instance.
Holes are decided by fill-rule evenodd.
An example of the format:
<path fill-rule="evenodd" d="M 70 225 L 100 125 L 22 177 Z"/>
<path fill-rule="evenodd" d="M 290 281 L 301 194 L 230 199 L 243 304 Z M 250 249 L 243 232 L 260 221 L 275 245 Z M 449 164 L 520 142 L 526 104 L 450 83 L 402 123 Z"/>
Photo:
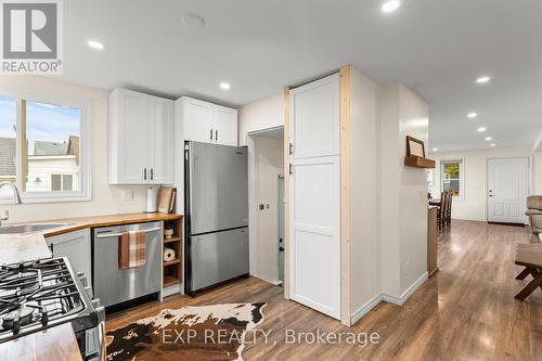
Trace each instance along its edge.
<path fill-rule="evenodd" d="M 284 88 L 284 298 L 289 299 L 289 87 Z"/>

